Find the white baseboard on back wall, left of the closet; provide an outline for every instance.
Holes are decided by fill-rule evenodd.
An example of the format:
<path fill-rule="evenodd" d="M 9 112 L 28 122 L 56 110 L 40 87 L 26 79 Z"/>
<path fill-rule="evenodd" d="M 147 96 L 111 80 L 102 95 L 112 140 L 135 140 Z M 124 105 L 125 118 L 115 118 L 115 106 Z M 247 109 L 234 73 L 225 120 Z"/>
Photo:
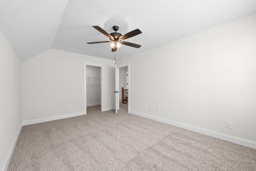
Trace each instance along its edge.
<path fill-rule="evenodd" d="M 28 121 L 23 121 L 23 125 L 31 125 L 35 123 L 41 123 L 41 122 L 47 122 L 47 121 L 54 121 L 58 119 L 65 119 L 68 117 L 75 117 L 75 116 L 80 116 L 84 115 L 84 111 L 77 112 L 77 113 L 70 113 L 70 114 L 65 114 L 65 115 L 57 115 L 57 116 L 52 116 L 52 117 L 44 117 L 40 119 L 32 119 Z"/>

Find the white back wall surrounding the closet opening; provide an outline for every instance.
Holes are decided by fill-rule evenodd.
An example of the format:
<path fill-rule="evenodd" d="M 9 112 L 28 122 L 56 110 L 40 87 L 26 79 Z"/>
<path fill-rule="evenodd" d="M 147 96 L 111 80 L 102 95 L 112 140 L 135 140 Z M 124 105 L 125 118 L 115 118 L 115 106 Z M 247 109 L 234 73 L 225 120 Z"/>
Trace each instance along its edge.
<path fill-rule="evenodd" d="M 113 60 L 50 49 L 22 63 L 23 121 L 84 111 L 84 62 L 104 66 L 104 109 L 114 107 Z"/>

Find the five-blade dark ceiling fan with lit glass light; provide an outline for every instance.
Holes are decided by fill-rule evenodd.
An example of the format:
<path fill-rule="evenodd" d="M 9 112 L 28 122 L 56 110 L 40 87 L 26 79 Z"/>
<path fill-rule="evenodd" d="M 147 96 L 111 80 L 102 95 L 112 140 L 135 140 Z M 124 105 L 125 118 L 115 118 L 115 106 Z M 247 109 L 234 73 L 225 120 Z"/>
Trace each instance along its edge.
<path fill-rule="evenodd" d="M 102 34 L 106 35 L 111 41 L 88 42 L 88 44 L 97 44 L 97 43 L 110 42 L 112 52 L 115 52 L 118 48 L 120 48 L 122 46 L 122 44 L 124 44 L 126 46 L 131 46 L 131 47 L 134 47 L 134 48 L 140 48 L 140 46 L 141 46 L 141 45 L 138 45 L 138 44 L 123 41 L 125 39 L 131 38 L 131 37 L 136 36 L 138 34 L 141 34 L 142 32 L 139 29 L 133 30 L 129 33 L 126 33 L 126 34 L 122 35 L 122 34 L 116 32 L 119 29 L 118 26 L 113 26 L 112 28 L 115 32 L 110 33 L 110 34 L 108 34 L 108 32 L 106 32 L 105 30 L 103 30 L 99 26 L 92 26 L 92 27 L 95 28 L 96 30 L 98 30 L 99 32 L 101 32 Z"/>

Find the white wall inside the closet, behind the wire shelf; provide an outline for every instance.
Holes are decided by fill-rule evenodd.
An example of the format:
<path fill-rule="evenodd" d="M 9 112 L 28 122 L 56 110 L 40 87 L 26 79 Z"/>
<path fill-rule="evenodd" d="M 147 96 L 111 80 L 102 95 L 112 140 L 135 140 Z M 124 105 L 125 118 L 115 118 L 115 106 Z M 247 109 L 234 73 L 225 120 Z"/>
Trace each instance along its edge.
<path fill-rule="evenodd" d="M 87 105 L 99 105 L 100 93 L 100 67 L 86 66 L 86 103 Z"/>

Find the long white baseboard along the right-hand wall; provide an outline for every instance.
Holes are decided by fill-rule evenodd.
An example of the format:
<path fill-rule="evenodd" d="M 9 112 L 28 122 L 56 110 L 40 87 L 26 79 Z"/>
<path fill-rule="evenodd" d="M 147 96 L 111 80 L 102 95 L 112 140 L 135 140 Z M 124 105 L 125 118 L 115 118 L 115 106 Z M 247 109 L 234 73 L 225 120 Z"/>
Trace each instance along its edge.
<path fill-rule="evenodd" d="M 254 141 L 234 137 L 234 136 L 231 136 L 231 135 L 226 135 L 226 134 L 223 134 L 223 133 L 218 133 L 218 132 L 215 132 L 215 131 L 210 131 L 208 129 L 203 129 L 203 128 L 200 128 L 200 127 L 195 127 L 195 126 L 192 126 L 192 125 L 187 125 L 187 124 L 176 122 L 176 121 L 171 121 L 171 120 L 164 119 L 164 118 L 161 118 L 161 117 L 156 117 L 156 116 L 152 116 L 152 115 L 148 115 L 148 114 L 144 114 L 144 113 L 139 113 L 139 112 L 136 112 L 136 111 L 130 111 L 130 113 L 134 114 L 134 115 L 137 115 L 137 116 L 146 117 L 148 119 L 152 119 L 152 120 L 159 121 L 159 122 L 162 122 L 162 123 L 167 123 L 169 125 L 173 125 L 173 126 L 176 126 L 176 127 L 181 127 L 181 128 L 184 128 L 184 129 L 188 129 L 190 131 L 194 131 L 194 132 L 197 132 L 197 133 L 202 133 L 204 135 L 209 135 L 211 137 L 215 137 L 215 138 L 218 138 L 218 139 L 222 139 L 222 140 L 225 140 L 225 141 L 230 141 L 232 143 L 236 143 L 236 144 L 239 144 L 239 145 L 243 145 L 243 146 L 246 146 L 246 147 L 256 149 L 256 142 L 254 142 Z"/>

